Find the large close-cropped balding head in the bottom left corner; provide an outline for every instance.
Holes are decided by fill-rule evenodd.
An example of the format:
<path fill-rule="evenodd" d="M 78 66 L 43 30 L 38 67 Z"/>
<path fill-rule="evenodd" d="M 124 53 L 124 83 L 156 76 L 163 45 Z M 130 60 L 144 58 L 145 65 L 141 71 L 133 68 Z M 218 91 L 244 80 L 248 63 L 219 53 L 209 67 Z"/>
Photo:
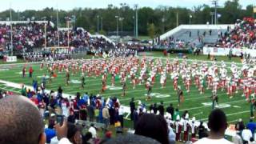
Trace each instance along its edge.
<path fill-rule="evenodd" d="M 0 143 L 45 144 L 44 123 L 38 107 L 18 95 L 0 100 Z"/>

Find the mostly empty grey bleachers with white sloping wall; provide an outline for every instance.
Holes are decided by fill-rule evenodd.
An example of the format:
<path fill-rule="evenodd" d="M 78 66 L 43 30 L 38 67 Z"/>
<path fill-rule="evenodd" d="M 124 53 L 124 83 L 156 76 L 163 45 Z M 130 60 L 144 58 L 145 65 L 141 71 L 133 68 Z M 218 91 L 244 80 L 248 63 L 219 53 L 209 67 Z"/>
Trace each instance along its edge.
<path fill-rule="evenodd" d="M 202 34 L 206 32 L 206 36 L 203 37 L 202 40 L 204 43 L 214 43 L 218 39 L 218 31 L 222 31 L 222 34 L 224 34 L 227 26 L 230 26 L 231 28 L 234 27 L 234 25 L 181 25 L 162 34 L 160 40 L 174 37 L 174 39 L 182 40 L 184 42 L 197 43 L 199 31 L 199 36 L 202 36 Z M 210 30 L 212 30 L 211 35 L 209 34 Z"/>

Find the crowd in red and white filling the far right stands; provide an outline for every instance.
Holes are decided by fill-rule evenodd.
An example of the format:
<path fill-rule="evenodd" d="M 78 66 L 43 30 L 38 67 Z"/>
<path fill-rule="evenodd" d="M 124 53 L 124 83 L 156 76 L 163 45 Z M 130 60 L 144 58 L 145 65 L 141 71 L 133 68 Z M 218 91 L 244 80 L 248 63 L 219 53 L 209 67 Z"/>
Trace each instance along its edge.
<path fill-rule="evenodd" d="M 254 18 L 237 20 L 234 29 L 228 29 L 224 34 L 219 34 L 217 46 L 256 49 L 256 22 Z"/>

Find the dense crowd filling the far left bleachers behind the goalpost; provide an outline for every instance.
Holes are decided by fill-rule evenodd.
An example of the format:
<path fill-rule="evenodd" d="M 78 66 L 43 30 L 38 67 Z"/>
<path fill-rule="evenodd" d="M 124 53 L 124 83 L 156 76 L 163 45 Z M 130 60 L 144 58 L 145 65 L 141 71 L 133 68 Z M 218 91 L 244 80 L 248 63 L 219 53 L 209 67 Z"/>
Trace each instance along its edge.
<path fill-rule="evenodd" d="M 0 46 L 5 46 L 6 50 L 11 49 L 10 29 L 10 26 L 6 24 L 0 25 Z M 114 46 L 105 38 L 91 37 L 82 29 L 57 30 L 56 27 L 50 25 L 50 22 L 46 23 L 46 34 L 45 23 L 36 22 L 13 24 L 12 31 L 14 51 L 18 52 L 33 51 L 33 48 L 45 47 L 45 44 L 46 47 L 58 46 L 58 42 L 62 47 L 86 47 L 89 50 Z"/>

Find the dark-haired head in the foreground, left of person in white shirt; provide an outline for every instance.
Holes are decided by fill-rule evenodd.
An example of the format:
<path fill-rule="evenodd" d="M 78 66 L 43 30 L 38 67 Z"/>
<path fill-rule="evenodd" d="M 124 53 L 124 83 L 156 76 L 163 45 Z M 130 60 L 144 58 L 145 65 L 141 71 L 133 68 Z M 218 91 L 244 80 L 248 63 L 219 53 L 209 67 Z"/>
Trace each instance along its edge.
<path fill-rule="evenodd" d="M 162 144 L 169 143 L 167 123 L 161 115 L 142 114 L 134 134 L 153 138 Z"/>

